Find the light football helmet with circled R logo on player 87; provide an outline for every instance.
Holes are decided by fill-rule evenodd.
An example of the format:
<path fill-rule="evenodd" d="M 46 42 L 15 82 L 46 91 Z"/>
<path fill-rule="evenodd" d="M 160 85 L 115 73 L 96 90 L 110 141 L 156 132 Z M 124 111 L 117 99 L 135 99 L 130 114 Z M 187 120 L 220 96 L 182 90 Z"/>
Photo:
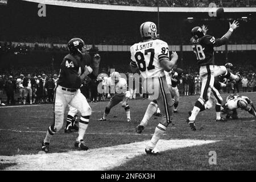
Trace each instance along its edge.
<path fill-rule="evenodd" d="M 157 33 L 156 24 L 153 22 L 144 22 L 141 24 L 141 27 L 139 28 L 139 32 L 141 33 L 142 39 L 157 39 L 158 35 Z"/>

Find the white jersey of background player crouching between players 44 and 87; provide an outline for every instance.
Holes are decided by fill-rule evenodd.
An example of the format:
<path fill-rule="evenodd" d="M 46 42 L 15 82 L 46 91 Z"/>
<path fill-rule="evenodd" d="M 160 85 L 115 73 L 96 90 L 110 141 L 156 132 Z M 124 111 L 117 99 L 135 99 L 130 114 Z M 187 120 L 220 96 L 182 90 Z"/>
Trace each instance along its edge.
<path fill-rule="evenodd" d="M 114 80 L 108 77 L 106 78 L 106 86 L 109 88 L 109 93 L 130 97 L 130 91 L 125 78 L 119 78 L 119 81 L 115 84 Z"/>

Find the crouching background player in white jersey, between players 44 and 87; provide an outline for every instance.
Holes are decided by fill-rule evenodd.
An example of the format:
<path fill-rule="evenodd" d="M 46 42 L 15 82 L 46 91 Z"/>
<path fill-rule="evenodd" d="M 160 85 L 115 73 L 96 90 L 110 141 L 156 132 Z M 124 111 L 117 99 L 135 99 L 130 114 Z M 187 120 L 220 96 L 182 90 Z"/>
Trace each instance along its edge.
<path fill-rule="evenodd" d="M 130 106 L 128 105 L 130 91 L 125 78 L 121 78 L 118 72 L 111 73 L 110 77 L 106 79 L 106 88 L 109 89 L 108 91 L 110 91 L 110 93 L 114 93 L 114 96 L 110 98 L 103 117 L 98 119 L 98 121 L 106 121 L 106 117 L 110 113 L 110 109 L 119 104 L 119 102 L 122 102 L 122 107 L 125 108 L 127 122 L 131 122 Z"/>

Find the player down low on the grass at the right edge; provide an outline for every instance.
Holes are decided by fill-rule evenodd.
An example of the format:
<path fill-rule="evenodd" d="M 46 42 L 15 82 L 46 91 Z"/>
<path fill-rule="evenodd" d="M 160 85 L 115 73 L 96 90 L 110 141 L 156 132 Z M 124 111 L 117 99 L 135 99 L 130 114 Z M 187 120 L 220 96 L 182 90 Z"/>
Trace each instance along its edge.
<path fill-rule="evenodd" d="M 223 109 L 222 113 L 227 114 L 227 118 L 232 117 L 233 119 L 238 119 L 237 117 L 237 109 L 241 108 L 242 110 L 246 110 L 248 113 L 253 115 L 256 118 L 256 110 L 253 105 L 253 101 L 251 101 L 246 96 L 235 96 L 233 94 L 226 97 L 226 103 L 222 105 Z"/>

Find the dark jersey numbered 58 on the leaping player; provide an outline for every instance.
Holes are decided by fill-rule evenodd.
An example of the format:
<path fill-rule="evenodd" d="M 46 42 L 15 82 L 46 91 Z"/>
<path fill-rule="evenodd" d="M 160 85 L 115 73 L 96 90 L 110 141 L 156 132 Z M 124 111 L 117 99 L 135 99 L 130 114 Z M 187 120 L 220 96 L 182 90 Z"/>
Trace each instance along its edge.
<path fill-rule="evenodd" d="M 191 39 L 193 52 L 196 54 L 197 64 L 214 65 L 214 49 L 226 43 L 226 38 L 215 39 L 214 36 L 205 35 L 197 40 Z"/>

